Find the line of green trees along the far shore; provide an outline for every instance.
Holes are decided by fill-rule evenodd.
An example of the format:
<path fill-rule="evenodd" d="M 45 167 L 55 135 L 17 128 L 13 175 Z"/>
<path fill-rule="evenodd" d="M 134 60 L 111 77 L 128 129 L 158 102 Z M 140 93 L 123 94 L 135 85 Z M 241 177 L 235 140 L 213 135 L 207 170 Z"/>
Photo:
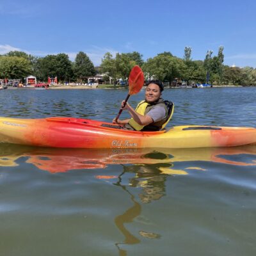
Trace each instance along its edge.
<path fill-rule="evenodd" d="M 102 58 L 100 67 L 95 67 L 84 52 L 78 52 L 74 61 L 68 55 L 60 53 L 36 57 L 26 52 L 10 51 L 0 55 L 0 79 L 20 79 L 33 75 L 38 81 L 47 81 L 48 77 L 58 77 L 58 81 L 79 82 L 86 81 L 86 77 L 95 74 L 105 74 L 103 79 L 108 83 L 111 77 L 113 83 L 116 79 L 127 79 L 134 65 L 140 65 L 145 79 L 159 79 L 172 83 L 173 79 L 181 79 L 188 84 L 213 83 L 256 85 L 256 68 L 230 67 L 223 65 L 223 47 L 220 46 L 218 54 L 212 56 L 212 51 L 207 51 L 204 60 L 191 58 L 191 47 L 185 47 L 183 58 L 173 56 L 171 52 L 162 52 L 143 61 L 139 52 L 117 53 L 113 56 L 110 52 Z"/>

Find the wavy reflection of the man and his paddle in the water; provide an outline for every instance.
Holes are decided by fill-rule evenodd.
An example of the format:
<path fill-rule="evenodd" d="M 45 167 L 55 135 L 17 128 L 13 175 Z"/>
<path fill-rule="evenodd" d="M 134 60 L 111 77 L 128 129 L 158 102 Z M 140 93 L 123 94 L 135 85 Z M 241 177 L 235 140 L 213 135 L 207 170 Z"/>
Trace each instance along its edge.
<path fill-rule="evenodd" d="M 153 153 L 154 154 L 154 153 Z M 159 155 L 159 153 L 156 153 Z M 163 156 L 162 156 L 163 157 Z M 172 166 L 172 164 L 160 164 L 164 166 Z M 136 166 L 125 166 L 123 165 L 124 172 L 118 176 L 118 182 L 115 183 L 116 186 L 124 189 L 124 191 L 129 195 L 132 202 L 132 207 L 127 209 L 123 214 L 116 216 L 115 225 L 118 227 L 120 232 L 124 235 L 125 239 L 121 243 L 116 243 L 119 255 L 127 255 L 127 251 L 121 248 L 122 244 L 132 245 L 140 243 L 140 239 L 134 234 L 131 234 L 127 228 L 125 228 L 125 223 L 132 223 L 134 219 L 138 218 L 141 214 L 141 204 L 136 200 L 136 197 L 132 195 L 130 190 L 133 188 L 141 188 L 141 193 L 139 193 L 140 202 L 143 204 L 148 204 L 153 200 L 159 200 L 165 195 L 165 181 L 166 175 L 161 174 L 159 170 L 159 164 L 137 164 Z M 128 185 L 123 184 L 122 177 L 125 174 L 132 174 L 133 176 L 129 179 Z M 124 182 L 125 183 L 125 182 Z M 161 237 L 160 234 L 154 232 L 148 232 L 145 230 L 140 230 L 140 236 L 146 237 L 148 239 L 156 239 Z"/>

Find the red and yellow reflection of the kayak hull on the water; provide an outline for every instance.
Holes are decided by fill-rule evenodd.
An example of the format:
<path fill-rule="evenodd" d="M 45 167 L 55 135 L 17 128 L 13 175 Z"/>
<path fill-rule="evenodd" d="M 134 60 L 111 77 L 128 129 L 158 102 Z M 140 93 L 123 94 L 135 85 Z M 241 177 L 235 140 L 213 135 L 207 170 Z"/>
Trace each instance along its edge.
<path fill-rule="evenodd" d="M 256 165 L 256 147 L 89 150 L 0 144 L 0 166 L 17 166 L 17 160 L 20 157 L 28 157 L 26 163 L 31 163 L 38 169 L 51 173 L 82 169 L 102 169 L 109 164 L 161 164 L 158 166 L 161 173 L 184 175 L 188 174 L 190 169 L 204 169 L 200 168 L 200 166 L 186 166 L 183 170 L 177 170 L 175 169 L 175 162 L 193 161 L 193 163 L 197 163 L 197 161 L 211 161 L 239 166 Z M 164 163 L 166 165 L 163 165 Z M 97 178 L 100 179 L 100 177 Z"/>

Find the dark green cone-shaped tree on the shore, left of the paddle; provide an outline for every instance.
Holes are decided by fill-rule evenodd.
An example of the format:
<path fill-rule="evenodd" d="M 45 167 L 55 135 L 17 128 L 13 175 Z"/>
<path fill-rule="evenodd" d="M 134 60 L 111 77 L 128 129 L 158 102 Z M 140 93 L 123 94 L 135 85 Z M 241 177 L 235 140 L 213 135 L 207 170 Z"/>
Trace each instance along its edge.
<path fill-rule="evenodd" d="M 76 78 L 95 76 L 96 70 L 90 58 L 84 52 L 78 52 L 74 63 L 74 76 Z"/>

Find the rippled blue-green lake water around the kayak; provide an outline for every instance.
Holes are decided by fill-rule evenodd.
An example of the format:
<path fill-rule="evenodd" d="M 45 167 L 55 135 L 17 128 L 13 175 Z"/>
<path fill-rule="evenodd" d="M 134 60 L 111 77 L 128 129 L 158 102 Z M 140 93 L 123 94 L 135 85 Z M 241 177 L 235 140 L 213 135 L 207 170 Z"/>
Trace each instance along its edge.
<path fill-rule="evenodd" d="M 135 106 L 143 91 L 129 102 Z M 0 116 L 111 122 L 127 90 L 2 90 Z M 166 89 L 171 125 L 256 127 L 256 88 Z M 128 117 L 122 113 L 122 117 Z M 256 147 L 0 144 L 0 255 L 256 255 Z"/>

